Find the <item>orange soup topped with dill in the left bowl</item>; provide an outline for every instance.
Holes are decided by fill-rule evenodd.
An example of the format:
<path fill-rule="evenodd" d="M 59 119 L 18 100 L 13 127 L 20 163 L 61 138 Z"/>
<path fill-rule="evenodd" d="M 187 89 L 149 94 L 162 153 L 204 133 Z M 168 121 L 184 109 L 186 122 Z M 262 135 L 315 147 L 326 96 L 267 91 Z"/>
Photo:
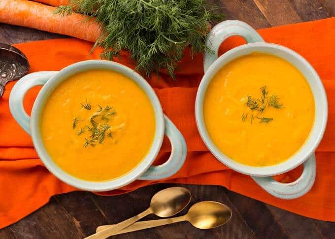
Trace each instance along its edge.
<path fill-rule="evenodd" d="M 104 181 L 142 161 L 155 126 L 150 99 L 133 80 L 97 69 L 69 77 L 52 92 L 40 130 L 60 168 L 79 179 Z"/>

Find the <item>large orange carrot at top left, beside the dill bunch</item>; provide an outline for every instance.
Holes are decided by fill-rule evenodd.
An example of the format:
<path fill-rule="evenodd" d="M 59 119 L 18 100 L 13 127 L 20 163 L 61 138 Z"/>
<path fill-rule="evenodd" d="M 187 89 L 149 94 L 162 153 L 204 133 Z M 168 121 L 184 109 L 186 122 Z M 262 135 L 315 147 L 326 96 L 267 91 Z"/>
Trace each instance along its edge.
<path fill-rule="evenodd" d="M 0 0 L 0 22 L 45 30 L 95 42 L 100 25 L 92 18 L 72 13 L 67 17 L 54 14 L 56 7 L 28 0 Z"/>

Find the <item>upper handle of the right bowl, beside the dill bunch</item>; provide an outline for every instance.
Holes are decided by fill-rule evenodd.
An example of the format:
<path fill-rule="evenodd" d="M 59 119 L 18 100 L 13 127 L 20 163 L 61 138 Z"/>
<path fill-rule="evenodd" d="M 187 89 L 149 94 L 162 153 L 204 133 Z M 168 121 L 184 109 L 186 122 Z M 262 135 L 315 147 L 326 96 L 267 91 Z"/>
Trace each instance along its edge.
<path fill-rule="evenodd" d="M 230 36 L 242 36 L 247 43 L 264 42 L 262 36 L 245 22 L 237 20 L 227 20 L 215 25 L 208 33 L 205 46 L 213 53 L 205 52 L 203 57 L 203 70 L 206 72 L 218 58 L 219 47 Z"/>

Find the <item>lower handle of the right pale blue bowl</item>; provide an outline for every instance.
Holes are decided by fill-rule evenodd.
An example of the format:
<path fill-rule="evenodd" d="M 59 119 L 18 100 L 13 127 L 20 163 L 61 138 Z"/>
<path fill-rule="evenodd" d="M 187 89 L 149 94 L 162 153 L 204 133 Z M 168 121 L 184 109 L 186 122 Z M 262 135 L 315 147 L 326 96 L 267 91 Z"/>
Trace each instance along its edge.
<path fill-rule="evenodd" d="M 272 177 L 251 177 L 272 196 L 282 199 L 299 198 L 313 186 L 316 175 L 315 154 L 313 153 L 304 163 L 302 175 L 290 183 L 281 183 Z"/>

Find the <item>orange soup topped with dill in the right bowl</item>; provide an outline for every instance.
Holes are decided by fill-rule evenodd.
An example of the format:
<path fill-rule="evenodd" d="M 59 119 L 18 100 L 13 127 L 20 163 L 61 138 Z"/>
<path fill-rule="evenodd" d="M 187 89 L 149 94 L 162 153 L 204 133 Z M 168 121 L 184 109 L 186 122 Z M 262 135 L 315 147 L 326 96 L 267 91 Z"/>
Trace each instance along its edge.
<path fill-rule="evenodd" d="M 203 115 L 228 157 L 269 166 L 297 152 L 312 129 L 315 105 L 302 73 L 276 56 L 253 53 L 223 66 L 209 83 Z"/>

